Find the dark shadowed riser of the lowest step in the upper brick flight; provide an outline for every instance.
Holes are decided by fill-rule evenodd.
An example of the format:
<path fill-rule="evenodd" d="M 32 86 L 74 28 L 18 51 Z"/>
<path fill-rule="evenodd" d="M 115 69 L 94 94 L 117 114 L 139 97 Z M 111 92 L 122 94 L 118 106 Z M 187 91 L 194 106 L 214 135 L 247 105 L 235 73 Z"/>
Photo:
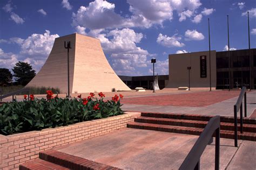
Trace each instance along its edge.
<path fill-rule="evenodd" d="M 202 132 L 202 131 L 195 131 L 195 130 L 179 130 L 179 129 L 172 129 L 172 128 L 161 128 L 161 127 L 152 127 L 152 126 L 144 126 L 144 125 L 130 125 L 130 124 L 127 124 L 127 128 L 154 130 L 154 131 L 171 132 L 171 133 L 192 134 L 192 135 L 198 135 L 198 136 Z M 213 136 L 215 136 L 215 135 L 213 134 Z M 234 134 L 220 132 L 220 137 L 227 138 L 227 139 L 234 139 Z M 256 141 L 255 136 L 254 137 L 244 136 L 241 134 L 238 134 L 238 139 Z"/>

